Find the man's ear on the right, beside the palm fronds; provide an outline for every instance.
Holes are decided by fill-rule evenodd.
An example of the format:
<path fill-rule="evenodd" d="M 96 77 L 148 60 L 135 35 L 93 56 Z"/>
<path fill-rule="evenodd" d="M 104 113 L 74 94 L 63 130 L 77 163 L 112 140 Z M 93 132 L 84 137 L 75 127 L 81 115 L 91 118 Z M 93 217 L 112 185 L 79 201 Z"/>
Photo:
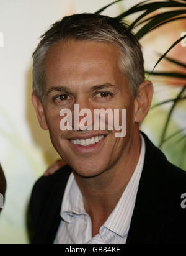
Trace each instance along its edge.
<path fill-rule="evenodd" d="M 143 121 L 148 114 L 153 98 L 153 84 L 151 81 L 144 81 L 139 85 L 135 98 L 135 122 Z"/>

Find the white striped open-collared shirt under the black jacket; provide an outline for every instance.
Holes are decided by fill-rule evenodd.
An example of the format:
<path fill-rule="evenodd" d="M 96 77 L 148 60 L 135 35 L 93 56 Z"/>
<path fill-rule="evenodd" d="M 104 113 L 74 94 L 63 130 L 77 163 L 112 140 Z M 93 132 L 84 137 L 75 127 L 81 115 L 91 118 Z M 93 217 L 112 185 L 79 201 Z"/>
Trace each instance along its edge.
<path fill-rule="evenodd" d="M 55 244 L 125 244 L 135 208 L 139 180 L 144 165 L 145 142 L 141 135 L 141 152 L 133 176 L 115 209 L 92 237 L 91 218 L 84 209 L 81 191 L 73 173 L 69 177 L 61 206 L 61 223 Z"/>

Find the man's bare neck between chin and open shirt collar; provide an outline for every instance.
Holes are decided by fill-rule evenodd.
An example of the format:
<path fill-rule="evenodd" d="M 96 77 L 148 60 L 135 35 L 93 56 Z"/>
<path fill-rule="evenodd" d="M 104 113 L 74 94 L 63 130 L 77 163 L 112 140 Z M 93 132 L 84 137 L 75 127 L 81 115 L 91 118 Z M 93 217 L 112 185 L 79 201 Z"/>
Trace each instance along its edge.
<path fill-rule="evenodd" d="M 84 198 L 84 208 L 92 221 L 95 216 L 96 218 L 99 216 L 100 222 L 104 224 L 112 213 L 135 171 L 140 148 L 141 140 L 138 131 L 132 136 L 128 149 L 123 152 L 118 162 L 104 173 L 91 178 L 84 178 L 74 173 Z"/>

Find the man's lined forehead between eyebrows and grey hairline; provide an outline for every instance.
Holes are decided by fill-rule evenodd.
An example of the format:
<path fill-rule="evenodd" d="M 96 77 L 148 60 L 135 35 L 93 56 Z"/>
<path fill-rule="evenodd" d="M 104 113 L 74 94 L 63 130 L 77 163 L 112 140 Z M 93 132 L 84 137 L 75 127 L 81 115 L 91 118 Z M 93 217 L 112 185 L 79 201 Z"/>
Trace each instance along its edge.
<path fill-rule="evenodd" d="M 120 50 L 107 42 L 66 40 L 53 43 L 47 52 L 47 85 L 92 85 L 117 83 Z"/>

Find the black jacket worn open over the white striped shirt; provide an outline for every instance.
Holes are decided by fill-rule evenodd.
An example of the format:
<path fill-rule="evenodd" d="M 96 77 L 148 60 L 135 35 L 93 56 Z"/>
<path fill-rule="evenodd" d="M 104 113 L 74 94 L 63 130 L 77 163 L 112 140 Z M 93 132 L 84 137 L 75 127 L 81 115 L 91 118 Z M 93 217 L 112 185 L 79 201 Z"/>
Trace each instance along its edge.
<path fill-rule="evenodd" d="M 146 155 L 126 244 L 186 244 L 186 208 L 181 207 L 186 172 L 169 163 L 143 136 Z M 30 201 L 33 244 L 52 244 L 55 240 L 70 173 L 66 165 L 35 183 Z"/>

